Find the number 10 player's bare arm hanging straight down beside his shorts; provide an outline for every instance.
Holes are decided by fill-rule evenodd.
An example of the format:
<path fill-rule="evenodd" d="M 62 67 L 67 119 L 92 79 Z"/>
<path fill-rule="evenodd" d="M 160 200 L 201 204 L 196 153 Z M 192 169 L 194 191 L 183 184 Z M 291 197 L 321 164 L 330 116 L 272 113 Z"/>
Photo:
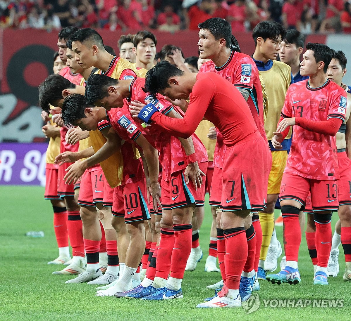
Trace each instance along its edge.
<path fill-rule="evenodd" d="M 138 136 L 137 139 L 135 139 L 135 143 L 137 143 L 143 150 L 143 155 L 147 165 L 144 165 L 145 175 L 148 174 L 148 177 L 150 178 L 150 193 L 153 198 L 154 210 L 157 210 L 157 204 L 161 206 L 161 187 L 158 182 L 158 151 L 155 148 L 153 148 L 153 146 L 151 146 L 151 144 L 141 134 Z"/>

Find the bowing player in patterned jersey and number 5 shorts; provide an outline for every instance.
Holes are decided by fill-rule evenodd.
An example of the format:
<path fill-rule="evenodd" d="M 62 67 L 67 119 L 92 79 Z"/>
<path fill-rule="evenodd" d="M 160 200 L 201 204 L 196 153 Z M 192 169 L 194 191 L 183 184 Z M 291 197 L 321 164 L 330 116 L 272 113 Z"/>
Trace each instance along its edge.
<path fill-rule="evenodd" d="M 161 113 L 180 117 L 176 107 L 163 97 L 155 99 L 145 93 L 144 86 L 145 78 L 117 81 L 103 75 L 93 75 L 88 79 L 86 96 L 90 103 L 111 111 L 123 107 L 125 102 L 129 105 L 137 100 L 144 105 L 151 102 L 157 105 Z M 204 204 L 201 175 L 205 175 L 207 168 L 206 150 L 196 135 L 178 139 L 167 134 L 160 135 L 158 129 L 142 126 L 139 122 L 136 125 L 159 151 L 163 168 L 161 238 L 157 253 L 155 250 L 162 259 L 158 260 L 155 254 L 155 269 L 150 270 L 150 274 L 147 271 L 141 287 L 116 296 L 143 297 L 147 300 L 182 298 L 181 282 L 191 251 L 191 217 L 194 207 Z M 188 184 L 188 176 L 192 184 Z"/>

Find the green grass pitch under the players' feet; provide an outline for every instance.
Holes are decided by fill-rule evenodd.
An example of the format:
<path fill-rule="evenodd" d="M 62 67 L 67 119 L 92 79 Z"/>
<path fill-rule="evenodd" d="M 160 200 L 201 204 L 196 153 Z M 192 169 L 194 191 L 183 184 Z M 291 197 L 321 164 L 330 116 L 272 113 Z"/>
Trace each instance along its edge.
<path fill-rule="evenodd" d="M 200 231 L 204 258 L 194 272 L 185 272 L 184 299 L 159 302 L 100 298 L 95 287 L 86 284 L 65 284 L 65 275 L 52 275 L 61 266 L 47 265 L 58 255 L 52 226 L 52 208 L 43 199 L 44 189 L 38 186 L 0 186 L 2 216 L 0 320 L 350 320 L 351 284 L 344 282 L 344 255 L 340 246 L 340 272 L 329 278 L 329 286 L 312 286 L 313 268 L 306 241 L 300 247 L 299 271 L 302 282 L 296 286 L 272 285 L 260 281 L 260 307 L 251 314 L 244 309 L 197 309 L 196 305 L 213 291 L 206 285 L 220 280 L 220 274 L 204 272 L 208 255 L 211 213 L 205 207 Z M 337 215 L 333 215 L 333 225 Z M 44 231 L 44 238 L 25 237 L 28 231 Z M 282 227 L 277 227 L 282 243 Z M 283 244 L 283 243 L 282 243 Z M 278 261 L 278 263 L 280 260 Z M 279 265 L 278 265 L 279 266 Z M 278 271 L 277 271 L 278 272 Z M 343 299 L 344 307 L 265 307 L 269 299 Z M 275 303 L 272 303 L 274 307 Z"/>

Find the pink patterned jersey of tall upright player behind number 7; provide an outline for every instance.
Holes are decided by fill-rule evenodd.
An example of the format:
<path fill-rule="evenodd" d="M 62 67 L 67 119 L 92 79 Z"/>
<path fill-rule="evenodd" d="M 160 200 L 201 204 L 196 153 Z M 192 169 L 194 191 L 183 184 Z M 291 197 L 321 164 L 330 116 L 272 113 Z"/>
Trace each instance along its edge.
<path fill-rule="evenodd" d="M 228 61 L 222 67 L 216 67 L 212 60 L 205 62 L 201 66 L 199 73 L 206 71 L 219 74 L 238 89 L 241 88 L 249 91 L 250 96 L 247 104 L 250 107 L 258 131 L 264 139 L 267 139 L 263 120 L 264 111 L 261 82 L 258 69 L 252 58 L 243 53 L 232 51 Z M 214 152 L 217 157 L 213 159 L 214 167 L 222 168 L 225 150 L 226 146 L 223 144 L 223 139 L 221 135 L 218 135 Z"/>

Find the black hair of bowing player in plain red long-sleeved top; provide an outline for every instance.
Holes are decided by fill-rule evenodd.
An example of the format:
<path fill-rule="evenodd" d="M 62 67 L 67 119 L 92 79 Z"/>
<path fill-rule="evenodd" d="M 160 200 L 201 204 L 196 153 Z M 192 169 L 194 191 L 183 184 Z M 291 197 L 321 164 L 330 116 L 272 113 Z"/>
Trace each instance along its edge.
<path fill-rule="evenodd" d="M 160 91 L 170 87 L 168 80 L 171 77 L 182 75 L 184 75 L 184 71 L 178 69 L 168 61 L 161 61 L 147 71 L 143 90 L 145 93 L 157 96 Z"/>

